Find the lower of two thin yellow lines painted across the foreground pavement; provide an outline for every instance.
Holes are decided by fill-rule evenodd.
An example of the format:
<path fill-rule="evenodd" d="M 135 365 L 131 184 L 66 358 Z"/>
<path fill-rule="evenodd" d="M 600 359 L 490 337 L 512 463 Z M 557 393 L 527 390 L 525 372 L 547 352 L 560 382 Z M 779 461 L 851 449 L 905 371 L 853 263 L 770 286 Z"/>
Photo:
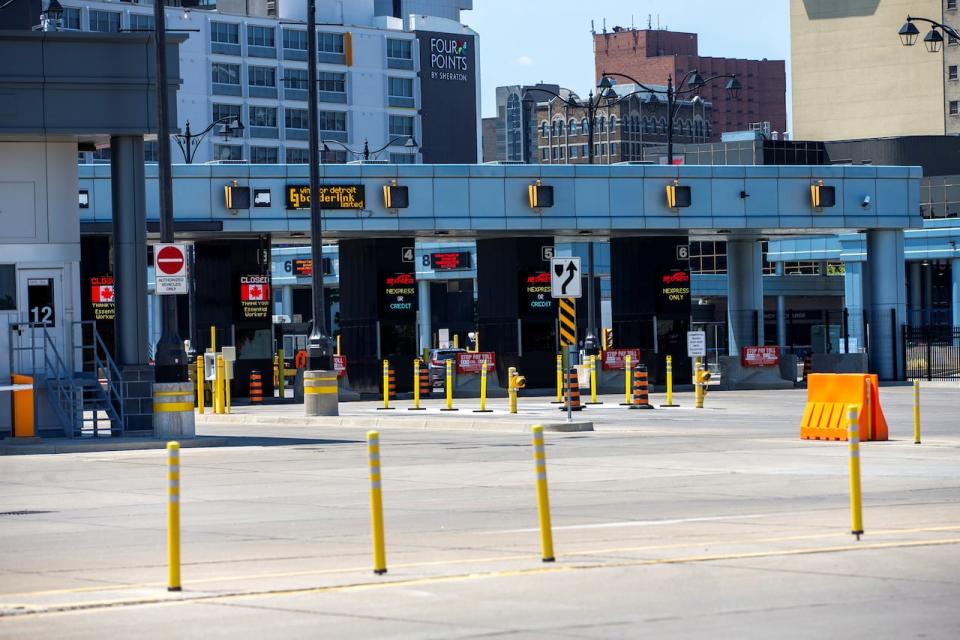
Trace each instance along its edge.
<path fill-rule="evenodd" d="M 589 564 L 572 565 L 553 565 L 531 567 L 527 569 L 513 569 L 506 571 L 487 571 L 480 573 L 464 573 L 448 576 L 434 576 L 426 578 L 410 578 L 401 580 L 383 580 L 377 582 L 364 582 L 347 585 L 331 585 L 327 587 L 299 587 L 291 589 L 274 589 L 265 591 L 246 591 L 219 594 L 178 594 L 168 595 L 166 597 L 145 597 L 129 598 L 116 600 L 92 600 L 87 602 L 75 602 L 59 605 L 21 605 L 12 603 L 0 603 L 0 609 L 18 609 L 29 608 L 28 611 L 0 614 L 2 618 L 14 618 L 21 616 L 45 615 L 51 613 L 67 613 L 71 611 L 107 609 L 113 607 L 144 606 L 151 604 L 189 604 L 193 602 L 215 602 L 218 600 L 237 600 L 243 598 L 265 598 L 265 597 L 283 597 L 299 596 L 317 593 L 339 593 L 348 591 L 362 591 L 368 589 L 385 589 L 392 587 L 409 587 L 427 584 L 441 584 L 447 582 L 462 582 L 467 580 L 481 580 L 491 578 L 510 578 L 518 576 L 530 576 L 547 573 L 559 573 L 570 571 L 585 571 L 595 569 L 615 569 L 622 567 L 641 567 L 656 566 L 668 564 L 693 564 L 701 562 L 719 562 L 727 560 L 748 560 L 756 558 L 773 558 L 798 555 L 815 555 L 825 553 L 840 553 L 845 551 L 866 551 L 878 549 L 903 549 L 910 547 L 944 546 L 960 544 L 960 538 L 948 538 L 944 540 L 914 540 L 904 542 L 878 542 L 878 543 L 854 543 L 848 545 L 838 545 L 833 547 L 808 547 L 801 549 L 782 549 L 771 551 L 749 551 L 743 553 L 716 554 L 686 556 L 679 558 L 657 558 L 641 560 L 624 560 L 620 562 L 597 562 Z M 529 558 L 530 556 L 525 556 Z M 367 567 L 369 569 L 369 567 Z"/>

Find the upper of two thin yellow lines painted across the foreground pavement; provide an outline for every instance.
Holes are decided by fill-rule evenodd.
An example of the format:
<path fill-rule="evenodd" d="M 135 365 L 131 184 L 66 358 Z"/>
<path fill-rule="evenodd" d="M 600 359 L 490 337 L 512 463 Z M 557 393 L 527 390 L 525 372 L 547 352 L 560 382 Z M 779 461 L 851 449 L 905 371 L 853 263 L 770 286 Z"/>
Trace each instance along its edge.
<path fill-rule="evenodd" d="M 870 537 L 905 535 L 909 533 L 938 533 L 948 531 L 960 531 L 960 525 L 944 525 L 937 527 L 920 527 L 913 529 L 877 529 L 867 532 Z M 799 540 L 825 540 L 829 538 L 846 537 L 846 533 L 816 533 L 799 536 L 777 536 L 772 538 L 754 538 L 744 540 L 704 540 L 698 542 L 678 542 L 674 544 L 643 545 L 635 547 L 609 547 L 606 549 L 588 549 L 583 551 L 564 551 L 563 557 L 583 557 L 583 556 L 601 556 L 615 553 L 636 553 L 640 551 L 668 551 L 673 549 L 686 549 L 691 547 L 718 547 L 718 546 L 739 546 L 745 544 L 771 543 L 771 542 L 795 542 Z M 889 543 L 898 544 L 898 543 Z M 859 546 L 859 545 L 858 545 Z M 512 562 L 515 560 L 528 560 L 534 557 L 535 553 L 522 553 L 515 555 L 490 556 L 481 558 L 456 558 L 450 560 L 427 560 L 420 562 L 391 563 L 393 569 L 418 569 L 427 567 L 442 567 L 464 564 L 482 564 L 488 562 Z M 269 558 L 267 558 L 269 560 Z M 248 558 L 240 562 L 263 562 L 260 558 Z M 189 567 L 189 563 L 185 563 Z M 271 580 L 278 578 L 301 578 L 304 576 L 321 576 L 334 573 L 353 573 L 370 571 L 369 565 L 361 567 L 340 567 L 332 569 L 309 569 L 303 571 L 286 571 L 275 573 L 252 573 L 233 576 L 217 576 L 211 578 L 196 578 L 189 580 L 191 585 L 212 584 L 217 582 L 239 582 L 249 580 Z M 125 591 L 130 589 L 147 589 L 152 587 L 166 586 L 166 582 L 125 582 L 117 584 L 104 584 L 92 587 L 75 587 L 70 589 L 49 589 L 44 591 L 24 591 L 13 593 L 0 593 L 0 598 L 30 598 L 38 596 L 64 595 L 71 593 L 92 593 L 96 591 Z M 0 604 L 0 607 L 3 605 Z"/>

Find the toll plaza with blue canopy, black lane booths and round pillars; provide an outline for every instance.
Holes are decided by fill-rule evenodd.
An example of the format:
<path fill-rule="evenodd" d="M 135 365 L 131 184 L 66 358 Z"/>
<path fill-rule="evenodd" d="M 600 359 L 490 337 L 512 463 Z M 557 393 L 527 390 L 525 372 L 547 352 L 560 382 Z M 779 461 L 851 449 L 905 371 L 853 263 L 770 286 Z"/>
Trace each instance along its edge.
<path fill-rule="evenodd" d="M 431 324 L 452 300 L 418 280 L 415 261 L 425 255 L 424 245 L 456 240 L 473 243 L 475 264 L 469 267 L 475 285 L 473 279 L 464 281 L 465 297 L 444 322 L 456 325 L 456 337 L 462 339 L 457 346 L 495 354 L 491 381 L 501 389 L 507 388 L 511 367 L 525 376 L 528 390 L 551 393 L 555 388 L 559 304 L 544 287 L 550 257 L 564 243 L 589 241 L 609 255 L 610 306 L 606 326 L 595 309 L 597 337 L 606 330 L 604 353 L 636 350 L 633 366 L 644 365 L 650 383 L 663 386 L 667 356 L 676 384 L 693 382 L 694 361 L 687 350 L 690 270 L 684 248 L 697 239 L 725 240 L 729 335 L 725 353 L 719 355 L 726 358 L 724 377 L 732 384 L 744 377 L 745 348 L 775 342 L 764 336 L 758 320 L 764 316 L 761 242 L 850 230 L 866 236 L 871 256 L 868 268 L 858 270 L 857 281 L 849 287 L 863 298 L 870 348 L 861 349 L 865 353 L 856 358 L 850 354 L 838 370 L 852 366 L 883 380 L 902 377 L 902 340 L 896 327 L 905 315 L 905 285 L 899 256 L 902 229 L 920 224 L 916 168 L 352 164 L 325 165 L 322 172 L 324 241 L 331 244 L 331 253 L 330 264 L 325 258 L 320 273 L 328 326 L 335 328 L 338 355 L 345 363 L 345 398 L 379 397 L 384 361 L 393 371 L 388 377 L 393 390 L 401 396 L 412 394 L 413 361 L 441 346 L 438 327 Z M 309 299 L 307 289 L 283 293 L 280 304 L 280 292 L 271 286 L 272 278 L 283 275 L 271 269 L 277 264 L 272 252 L 287 252 L 308 241 L 306 178 L 305 166 L 174 167 L 177 238 L 188 245 L 192 259 L 190 303 L 181 305 L 181 334 L 197 353 L 213 343 L 237 348 L 234 398 L 248 396 L 253 372 L 260 375 L 266 398 L 276 393 L 279 378 L 270 375 L 274 343 L 283 347 L 281 331 L 289 328 L 275 331 L 273 316 L 289 310 L 292 317 L 283 316 L 287 320 L 310 320 L 295 311 L 308 306 L 303 304 Z M 89 202 L 81 210 L 84 255 L 109 255 L 105 232 L 112 216 L 110 173 L 81 166 L 79 179 Z M 148 167 L 149 188 L 154 179 Z M 531 187 L 537 193 L 551 191 L 552 200 L 534 201 Z M 387 202 L 393 188 L 405 188 L 406 201 Z M 238 191 L 255 197 L 237 197 Z M 349 202 L 343 201 L 344 193 L 350 194 Z M 149 223 L 156 215 L 152 203 L 144 214 Z M 451 256 L 445 264 L 463 259 Z M 102 259 L 81 265 L 83 277 L 91 282 L 111 277 L 106 267 Z M 303 260 L 291 261 L 293 268 L 301 275 L 320 276 Z M 576 341 L 581 347 L 590 324 L 589 284 L 584 278 L 583 297 L 576 301 Z M 150 315 L 156 325 L 156 309 Z M 104 334 L 123 332 L 122 322 L 100 326 Z M 477 336 L 479 345 L 468 343 L 468 335 Z M 622 371 L 604 366 L 616 359 L 597 355 L 601 389 L 619 389 Z M 748 371 L 758 385 L 752 388 L 776 388 L 784 381 L 793 386 L 797 363 L 791 358 L 782 354 L 779 369 L 765 373 L 773 387 L 764 387 L 753 375 L 757 372 Z M 296 371 L 295 359 L 296 353 L 285 353 L 285 368 Z M 423 366 L 430 368 L 426 361 Z M 583 370 L 579 375 L 589 376 Z M 292 377 L 285 382 L 294 385 Z"/>

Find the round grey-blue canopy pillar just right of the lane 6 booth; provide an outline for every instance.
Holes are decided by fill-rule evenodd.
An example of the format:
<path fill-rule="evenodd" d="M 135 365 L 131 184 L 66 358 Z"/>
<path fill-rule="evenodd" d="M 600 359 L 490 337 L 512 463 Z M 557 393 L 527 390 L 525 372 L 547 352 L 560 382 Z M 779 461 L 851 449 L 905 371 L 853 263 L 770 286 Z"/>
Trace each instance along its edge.
<path fill-rule="evenodd" d="M 755 240 L 727 241 L 727 322 L 731 356 L 763 344 L 763 253 Z"/>

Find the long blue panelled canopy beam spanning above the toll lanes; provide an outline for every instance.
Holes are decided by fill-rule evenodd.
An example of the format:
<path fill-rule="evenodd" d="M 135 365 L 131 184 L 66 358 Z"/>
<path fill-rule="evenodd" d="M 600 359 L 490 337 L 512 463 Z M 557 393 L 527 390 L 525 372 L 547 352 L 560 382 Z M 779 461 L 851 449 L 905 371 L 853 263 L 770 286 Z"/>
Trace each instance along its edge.
<path fill-rule="evenodd" d="M 156 165 L 147 165 L 148 219 L 156 219 Z M 231 234 L 309 232 L 309 211 L 287 210 L 285 188 L 306 184 L 305 165 L 177 165 L 177 221 L 218 222 Z M 919 227 L 919 167 L 637 165 L 324 165 L 322 184 L 363 184 L 366 209 L 324 211 L 331 237 L 419 235 L 599 235 L 703 233 L 777 237 Z M 79 168 L 90 208 L 81 222 L 109 222 L 109 166 Z M 269 189 L 265 208 L 230 211 L 223 188 Z M 410 207 L 384 208 L 382 188 L 409 187 Z M 555 205 L 529 208 L 527 187 L 554 188 Z M 674 180 L 692 188 L 692 205 L 667 208 Z M 810 186 L 836 189 L 835 207 L 811 207 Z M 869 200 L 868 200 L 869 198 Z"/>

